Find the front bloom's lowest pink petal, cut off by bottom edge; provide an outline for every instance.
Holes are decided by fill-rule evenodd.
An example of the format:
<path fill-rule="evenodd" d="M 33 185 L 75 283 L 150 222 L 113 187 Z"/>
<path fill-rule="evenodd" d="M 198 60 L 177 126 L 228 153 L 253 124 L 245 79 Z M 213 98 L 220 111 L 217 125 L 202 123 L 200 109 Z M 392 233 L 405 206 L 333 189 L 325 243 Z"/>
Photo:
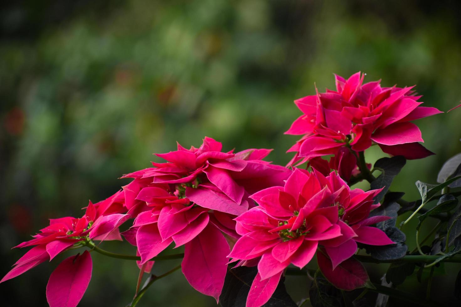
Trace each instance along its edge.
<path fill-rule="evenodd" d="M 269 301 L 277 289 L 280 276 L 282 276 L 282 271 L 271 278 L 261 280 L 261 275 L 256 274 L 248 292 L 246 307 L 260 307 Z"/>

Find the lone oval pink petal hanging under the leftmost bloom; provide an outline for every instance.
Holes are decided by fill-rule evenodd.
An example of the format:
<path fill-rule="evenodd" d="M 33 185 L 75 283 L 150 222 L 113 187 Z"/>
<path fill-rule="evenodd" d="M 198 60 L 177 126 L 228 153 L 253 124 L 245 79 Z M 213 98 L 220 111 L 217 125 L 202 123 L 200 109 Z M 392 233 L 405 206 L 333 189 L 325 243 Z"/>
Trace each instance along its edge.
<path fill-rule="evenodd" d="M 51 273 L 47 284 L 50 307 L 76 307 L 88 288 L 93 264 L 89 252 L 71 256 Z"/>

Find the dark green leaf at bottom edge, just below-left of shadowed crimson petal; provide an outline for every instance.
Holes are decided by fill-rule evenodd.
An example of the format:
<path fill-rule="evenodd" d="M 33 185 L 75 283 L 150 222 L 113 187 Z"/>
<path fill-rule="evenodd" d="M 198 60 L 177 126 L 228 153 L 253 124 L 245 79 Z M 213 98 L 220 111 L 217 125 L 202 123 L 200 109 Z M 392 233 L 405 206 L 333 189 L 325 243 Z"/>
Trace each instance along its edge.
<path fill-rule="evenodd" d="M 315 273 L 309 290 L 309 299 L 313 307 L 343 307 L 341 290 L 336 289 L 320 273 Z"/>

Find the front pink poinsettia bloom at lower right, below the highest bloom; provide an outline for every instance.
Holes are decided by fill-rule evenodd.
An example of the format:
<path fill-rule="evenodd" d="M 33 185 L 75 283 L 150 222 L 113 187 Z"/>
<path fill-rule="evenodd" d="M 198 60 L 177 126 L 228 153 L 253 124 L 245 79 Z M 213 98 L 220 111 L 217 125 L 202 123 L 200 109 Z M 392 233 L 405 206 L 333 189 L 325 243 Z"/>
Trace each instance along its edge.
<path fill-rule="evenodd" d="M 393 243 L 384 232 L 369 226 L 374 220 L 366 220 L 370 210 L 378 206 L 372 204 L 372 198 L 379 191 L 350 190 L 335 172 L 325 177 L 315 169 L 308 173 L 296 168 L 284 186 L 253 194 L 251 198 L 259 206 L 236 218 L 236 232 L 242 237 L 229 255 L 240 260 L 237 266 L 258 261 L 258 274 L 250 288 L 247 307 L 266 303 L 284 269 L 290 264 L 306 266 L 320 245 L 328 246 L 329 255 L 342 262 L 346 259 L 336 254 L 346 251 L 349 258 L 349 251 L 357 250 L 356 241 L 374 245 Z M 387 219 L 374 217 L 379 218 Z M 378 237 L 373 238 L 374 235 Z M 265 289 L 264 295 L 257 295 L 261 287 Z"/>

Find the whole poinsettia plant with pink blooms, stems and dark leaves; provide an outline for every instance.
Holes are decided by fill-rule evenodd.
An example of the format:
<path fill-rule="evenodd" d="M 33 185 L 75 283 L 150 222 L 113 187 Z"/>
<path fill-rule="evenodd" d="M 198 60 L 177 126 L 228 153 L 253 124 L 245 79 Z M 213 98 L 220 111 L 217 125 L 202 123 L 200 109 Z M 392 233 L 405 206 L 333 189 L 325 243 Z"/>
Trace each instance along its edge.
<path fill-rule="evenodd" d="M 32 248 L 0 282 L 80 249 L 51 274 L 46 287 L 51 307 L 77 306 L 95 253 L 136 261 L 140 274 L 129 306 L 179 269 L 195 290 L 224 307 L 298 306 L 284 287 L 290 275 L 312 280 L 305 296 L 313 306 L 363 305 L 367 292 L 435 304 L 434 268 L 461 262 L 456 256 L 461 253 L 461 154 L 443 165 L 437 185 L 416 182 L 420 199 L 403 200 L 403 192 L 390 191 L 394 177 L 407 159 L 434 154 L 420 144 L 413 121 L 442 112 L 421 106 L 413 87 L 364 83 L 360 72 L 335 79 L 336 90 L 315 89 L 295 101 L 303 114 L 286 133 L 301 139 L 288 150 L 295 155 L 287 166 L 266 161 L 268 149 L 223 151 L 208 137 L 198 148 L 177 144 L 176 151 L 157 154 L 165 162 L 124 175 L 132 181 L 103 201 L 89 202 L 83 216 L 52 219 L 16 246 Z M 390 157 L 372 166 L 365 151 L 374 145 Z M 369 191 L 354 188 L 363 180 Z M 397 225 L 401 214 L 408 217 Z M 420 239 L 428 218 L 439 222 Z M 408 229 L 412 219 L 419 220 L 416 229 Z M 122 224 L 129 224 L 124 232 Z M 408 250 L 403 231 L 416 232 L 415 250 Z M 100 248 L 109 240 L 128 241 L 136 255 Z M 183 253 L 162 255 L 181 246 Z M 160 276 L 148 275 L 141 287 L 156 261 L 171 259 L 181 263 Z M 388 263 L 382 282 L 371 280 L 363 263 Z M 429 272 L 426 300 L 396 289 L 416 267 L 419 276 Z"/>

